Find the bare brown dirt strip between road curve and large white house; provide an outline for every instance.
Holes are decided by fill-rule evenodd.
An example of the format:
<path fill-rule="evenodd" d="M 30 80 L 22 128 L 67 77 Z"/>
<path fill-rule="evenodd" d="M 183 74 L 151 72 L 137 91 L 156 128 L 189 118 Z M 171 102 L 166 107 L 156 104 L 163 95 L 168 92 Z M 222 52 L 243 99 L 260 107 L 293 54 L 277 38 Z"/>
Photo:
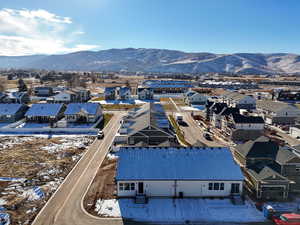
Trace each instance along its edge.
<path fill-rule="evenodd" d="M 116 198 L 115 175 L 117 158 L 108 155 L 101 164 L 92 185 L 90 186 L 85 198 L 84 207 L 92 215 L 97 216 L 95 205 L 98 199 Z"/>

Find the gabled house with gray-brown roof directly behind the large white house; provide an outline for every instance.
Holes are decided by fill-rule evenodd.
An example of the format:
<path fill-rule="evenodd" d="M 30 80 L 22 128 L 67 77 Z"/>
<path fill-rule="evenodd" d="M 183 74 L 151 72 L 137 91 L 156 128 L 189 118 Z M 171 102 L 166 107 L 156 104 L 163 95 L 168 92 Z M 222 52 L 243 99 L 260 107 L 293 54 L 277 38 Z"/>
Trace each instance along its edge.
<path fill-rule="evenodd" d="M 147 103 L 123 118 L 116 143 L 128 145 L 177 145 L 177 139 L 160 104 Z"/>

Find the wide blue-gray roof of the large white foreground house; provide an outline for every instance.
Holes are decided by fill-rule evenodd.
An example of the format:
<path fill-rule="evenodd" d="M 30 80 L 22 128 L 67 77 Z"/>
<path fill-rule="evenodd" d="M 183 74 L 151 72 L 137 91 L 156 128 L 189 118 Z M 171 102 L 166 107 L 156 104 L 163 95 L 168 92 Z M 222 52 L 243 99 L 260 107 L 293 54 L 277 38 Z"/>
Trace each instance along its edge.
<path fill-rule="evenodd" d="M 243 180 L 228 148 L 123 147 L 116 180 Z"/>

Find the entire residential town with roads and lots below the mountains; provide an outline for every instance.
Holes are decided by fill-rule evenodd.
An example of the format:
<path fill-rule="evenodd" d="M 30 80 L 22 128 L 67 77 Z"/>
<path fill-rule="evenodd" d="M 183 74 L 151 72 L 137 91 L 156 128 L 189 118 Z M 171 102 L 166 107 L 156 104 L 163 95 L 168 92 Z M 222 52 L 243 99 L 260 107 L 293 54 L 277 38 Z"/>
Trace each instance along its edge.
<path fill-rule="evenodd" d="M 0 72 L 0 225 L 300 224 L 297 75 Z"/>

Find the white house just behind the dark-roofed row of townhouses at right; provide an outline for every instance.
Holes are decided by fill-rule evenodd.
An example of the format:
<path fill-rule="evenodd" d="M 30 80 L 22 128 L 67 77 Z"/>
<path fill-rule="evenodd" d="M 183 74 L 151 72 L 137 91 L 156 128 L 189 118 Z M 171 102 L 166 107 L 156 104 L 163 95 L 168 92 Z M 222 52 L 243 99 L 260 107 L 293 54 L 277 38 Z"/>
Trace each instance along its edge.
<path fill-rule="evenodd" d="M 238 92 L 228 92 L 223 95 L 223 101 L 231 107 L 239 109 L 255 109 L 256 99 L 249 95 L 240 94 Z"/>

